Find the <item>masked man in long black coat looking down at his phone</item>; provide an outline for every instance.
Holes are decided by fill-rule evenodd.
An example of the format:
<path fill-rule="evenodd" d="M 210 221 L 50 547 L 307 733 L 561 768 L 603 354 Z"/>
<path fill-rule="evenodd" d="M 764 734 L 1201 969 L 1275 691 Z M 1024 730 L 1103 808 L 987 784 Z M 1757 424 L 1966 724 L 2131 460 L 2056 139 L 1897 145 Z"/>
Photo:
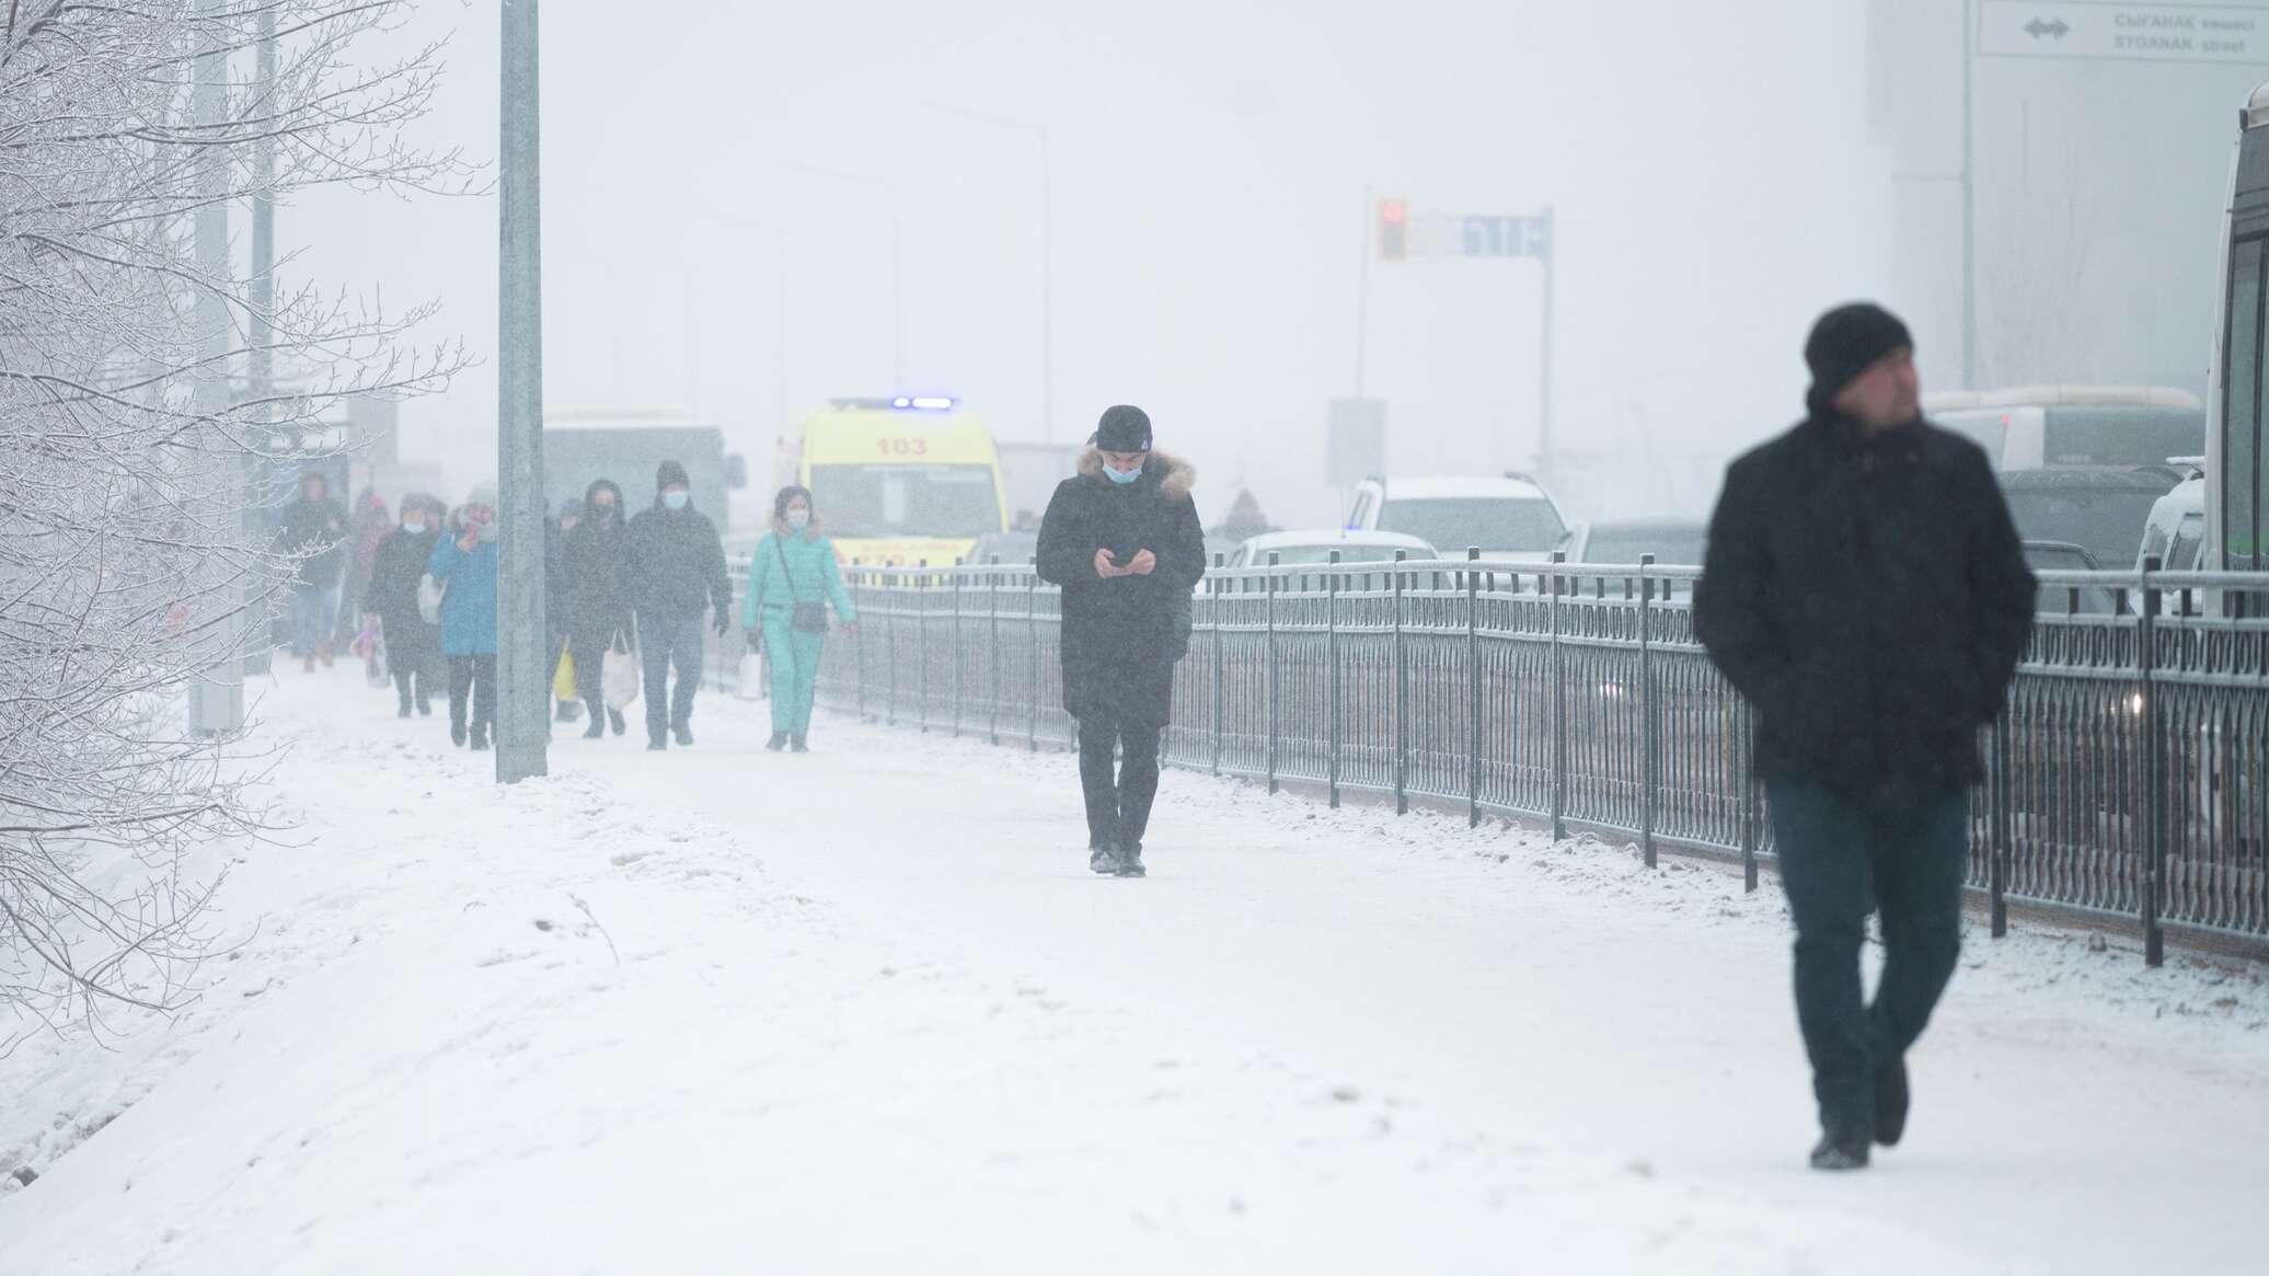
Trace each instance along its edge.
<path fill-rule="evenodd" d="M 1146 874 L 1157 745 L 1173 665 L 1189 652 L 1189 593 L 1205 577 L 1196 477 L 1150 450 L 1141 409 L 1114 406 L 1039 522 L 1039 577 L 1064 588 L 1064 708 L 1080 720 L 1087 867 L 1100 874 Z"/>

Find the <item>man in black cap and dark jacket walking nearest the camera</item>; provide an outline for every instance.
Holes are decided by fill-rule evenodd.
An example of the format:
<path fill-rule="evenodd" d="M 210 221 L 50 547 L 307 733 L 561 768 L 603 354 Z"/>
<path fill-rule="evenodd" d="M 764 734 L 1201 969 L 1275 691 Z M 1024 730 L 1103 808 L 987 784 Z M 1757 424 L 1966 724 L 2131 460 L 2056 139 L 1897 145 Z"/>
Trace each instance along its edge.
<path fill-rule="evenodd" d="M 1820 1103 L 1811 1160 L 1861 1169 L 1906 1128 L 1906 1049 L 1954 974 L 1976 738 L 2024 654 L 2033 574 L 1983 450 L 1922 420 L 1906 325 L 1829 311 L 1804 361 L 1806 420 L 1727 470 L 1695 633 L 1758 717 Z"/>

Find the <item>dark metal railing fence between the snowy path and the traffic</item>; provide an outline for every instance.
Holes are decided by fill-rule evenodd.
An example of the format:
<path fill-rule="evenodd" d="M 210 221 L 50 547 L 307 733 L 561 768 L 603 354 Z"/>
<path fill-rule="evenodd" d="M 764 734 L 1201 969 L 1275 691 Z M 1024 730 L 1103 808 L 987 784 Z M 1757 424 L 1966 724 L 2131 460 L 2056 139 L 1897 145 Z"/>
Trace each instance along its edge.
<path fill-rule="evenodd" d="M 744 565 L 744 563 L 742 563 Z M 1699 568 L 1479 559 L 1214 570 L 1175 672 L 1169 765 L 1461 804 L 1554 836 L 1772 856 L 1749 706 L 1693 638 Z M 853 568 L 821 704 L 880 722 L 1071 745 L 1057 590 L 1023 565 Z M 1985 733 L 1969 885 L 2269 938 L 2269 620 L 2205 615 L 2260 577 L 2042 572 L 2044 611 Z M 740 638 L 719 645 L 733 681 Z"/>

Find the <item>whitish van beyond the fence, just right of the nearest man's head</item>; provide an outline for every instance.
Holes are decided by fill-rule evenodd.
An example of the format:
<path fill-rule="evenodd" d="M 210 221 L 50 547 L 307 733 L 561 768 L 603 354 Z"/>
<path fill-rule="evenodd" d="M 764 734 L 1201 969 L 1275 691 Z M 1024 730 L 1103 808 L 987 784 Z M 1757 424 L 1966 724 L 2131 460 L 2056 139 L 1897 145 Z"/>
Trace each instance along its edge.
<path fill-rule="evenodd" d="M 2205 404 L 2169 386 L 2026 386 L 1924 395 L 1922 413 L 1969 436 L 1994 470 L 2160 465 L 2205 450 Z"/>

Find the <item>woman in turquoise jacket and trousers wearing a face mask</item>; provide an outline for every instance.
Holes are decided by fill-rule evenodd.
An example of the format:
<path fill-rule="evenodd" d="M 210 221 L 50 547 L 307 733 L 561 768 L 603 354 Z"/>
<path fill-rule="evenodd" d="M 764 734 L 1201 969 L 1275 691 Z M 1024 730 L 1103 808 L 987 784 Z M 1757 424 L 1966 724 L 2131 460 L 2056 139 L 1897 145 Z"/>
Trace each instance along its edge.
<path fill-rule="evenodd" d="M 749 559 L 749 588 L 740 595 L 740 624 L 749 643 L 762 643 L 771 654 L 771 752 L 808 752 L 812 731 L 812 686 L 819 679 L 819 654 L 826 649 L 826 604 L 844 622 L 844 633 L 858 629 L 851 590 L 835 565 L 835 543 L 819 534 L 812 493 L 787 486 L 771 497 L 771 534 L 756 543 Z M 796 629 L 796 604 L 819 618 L 819 631 Z"/>

